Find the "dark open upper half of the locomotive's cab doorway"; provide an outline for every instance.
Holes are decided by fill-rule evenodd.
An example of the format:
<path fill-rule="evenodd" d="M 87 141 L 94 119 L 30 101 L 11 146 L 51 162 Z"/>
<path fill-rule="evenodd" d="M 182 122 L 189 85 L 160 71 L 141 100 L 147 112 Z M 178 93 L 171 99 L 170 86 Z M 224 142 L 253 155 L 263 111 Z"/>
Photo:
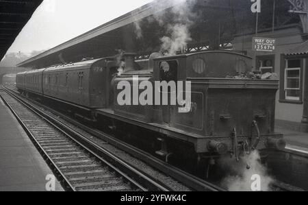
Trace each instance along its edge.
<path fill-rule="evenodd" d="M 176 60 L 160 62 L 160 80 L 166 82 L 177 82 L 177 67 L 178 64 Z"/>

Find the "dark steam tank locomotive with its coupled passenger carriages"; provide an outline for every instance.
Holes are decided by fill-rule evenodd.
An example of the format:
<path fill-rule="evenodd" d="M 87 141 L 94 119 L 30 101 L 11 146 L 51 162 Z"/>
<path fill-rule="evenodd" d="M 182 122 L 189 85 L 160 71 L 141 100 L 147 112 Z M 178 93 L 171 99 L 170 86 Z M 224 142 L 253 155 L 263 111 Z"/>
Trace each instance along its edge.
<path fill-rule="evenodd" d="M 227 77 L 253 71 L 250 57 L 203 51 L 177 56 L 153 53 L 149 60 L 135 60 L 133 53 L 125 53 L 122 60 L 120 73 L 118 58 L 101 58 L 18 73 L 16 86 L 25 95 L 62 104 L 77 117 L 122 129 L 127 136 L 136 134 L 140 141 L 151 136 L 159 144 L 156 154 L 166 160 L 170 154 L 188 152 L 184 147 L 192 147 L 198 156 L 231 154 L 237 159 L 252 149 L 285 147 L 283 136 L 274 132 L 279 81 Z M 143 106 L 133 99 L 128 99 L 131 104 L 118 102 L 122 82 L 129 82 L 134 95 L 133 87 L 142 82 L 179 81 L 191 84 L 188 112 L 179 112 L 183 104 L 157 105 L 155 99 Z M 169 89 L 164 96 L 171 95 Z M 138 135 L 138 130 L 145 131 Z"/>

